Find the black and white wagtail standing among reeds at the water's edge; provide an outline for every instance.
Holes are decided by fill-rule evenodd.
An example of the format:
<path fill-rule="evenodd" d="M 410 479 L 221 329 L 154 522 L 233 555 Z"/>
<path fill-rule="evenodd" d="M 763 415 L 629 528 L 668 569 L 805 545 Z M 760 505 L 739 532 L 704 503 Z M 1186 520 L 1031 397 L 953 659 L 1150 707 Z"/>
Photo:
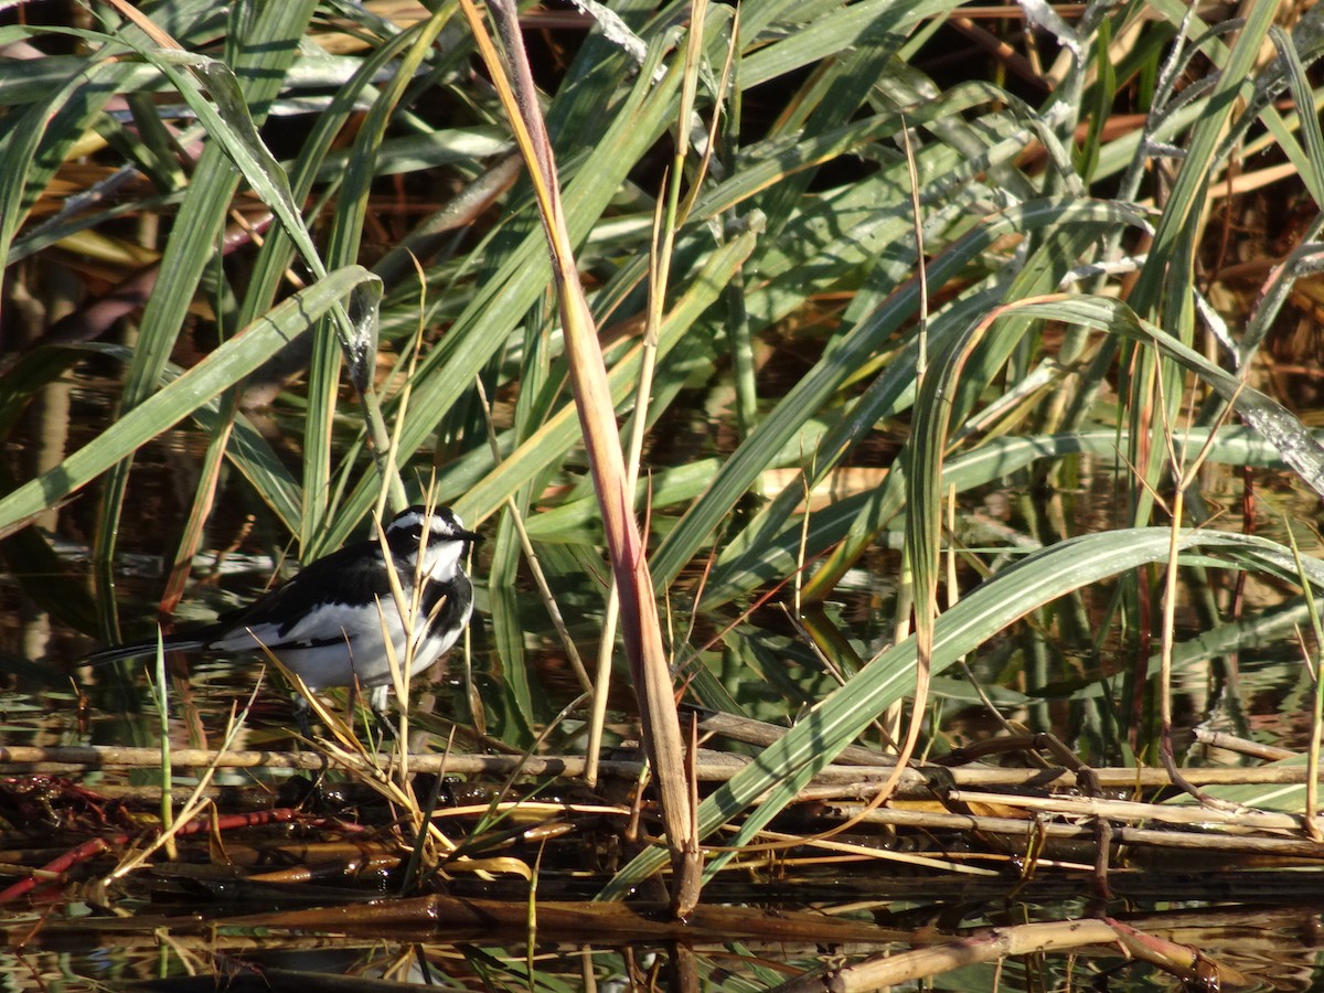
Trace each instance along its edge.
<path fill-rule="evenodd" d="M 413 506 L 385 527 L 385 547 L 399 577 L 404 610 L 392 593 L 391 567 L 376 538 L 350 544 L 303 567 L 270 593 L 205 628 L 163 639 L 167 651 L 275 655 L 310 690 L 360 686 L 381 718 L 391 690 L 391 639 L 396 665 L 409 677 L 450 649 L 469 624 L 474 592 L 463 559 L 481 539 L 449 507 Z M 412 617 L 410 617 L 412 614 Z M 404 618 L 408 618 L 406 624 Z M 412 647 L 406 645 L 412 642 Z M 120 645 L 87 657 L 93 665 L 156 653 L 156 641 Z M 295 715 L 307 732 L 307 700 Z"/>

